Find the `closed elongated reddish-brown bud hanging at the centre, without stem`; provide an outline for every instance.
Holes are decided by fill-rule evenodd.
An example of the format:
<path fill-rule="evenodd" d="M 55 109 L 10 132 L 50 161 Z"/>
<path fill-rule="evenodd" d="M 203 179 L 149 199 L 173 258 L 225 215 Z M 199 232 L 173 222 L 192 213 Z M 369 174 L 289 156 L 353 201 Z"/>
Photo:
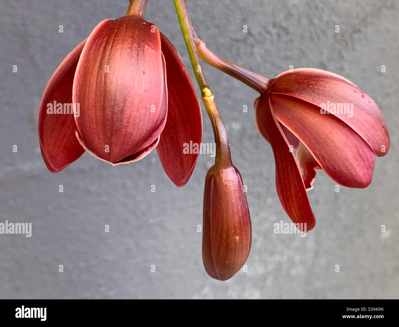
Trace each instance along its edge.
<path fill-rule="evenodd" d="M 209 276 L 227 280 L 245 264 L 251 250 L 251 219 L 243 181 L 230 163 L 212 166 L 205 177 L 202 260 Z"/>

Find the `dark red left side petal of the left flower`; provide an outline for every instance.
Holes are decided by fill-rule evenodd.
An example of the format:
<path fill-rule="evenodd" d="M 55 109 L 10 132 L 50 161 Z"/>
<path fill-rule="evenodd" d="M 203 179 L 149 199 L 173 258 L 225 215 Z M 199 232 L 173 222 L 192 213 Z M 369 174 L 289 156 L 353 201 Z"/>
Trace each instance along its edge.
<path fill-rule="evenodd" d="M 72 103 L 72 85 L 76 65 L 86 40 L 81 42 L 58 66 L 51 76 L 41 98 L 38 132 L 40 150 L 47 168 L 59 172 L 78 159 L 85 150 L 75 137 L 75 119 L 73 113 L 56 113 L 56 105 Z M 50 107 L 51 104 L 51 107 Z M 50 112 L 50 109 L 53 109 Z"/>

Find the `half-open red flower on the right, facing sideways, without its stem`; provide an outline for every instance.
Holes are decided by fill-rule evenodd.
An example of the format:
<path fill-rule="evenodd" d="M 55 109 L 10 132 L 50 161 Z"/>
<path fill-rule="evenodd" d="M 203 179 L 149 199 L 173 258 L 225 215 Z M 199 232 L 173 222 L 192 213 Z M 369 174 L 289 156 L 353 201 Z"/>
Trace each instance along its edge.
<path fill-rule="evenodd" d="M 306 190 L 317 169 L 338 184 L 364 188 L 375 156 L 389 149 L 388 129 L 374 101 L 328 71 L 284 72 L 269 81 L 254 106 L 258 129 L 273 149 L 280 202 L 293 222 L 307 223 L 307 230 L 316 223 Z"/>

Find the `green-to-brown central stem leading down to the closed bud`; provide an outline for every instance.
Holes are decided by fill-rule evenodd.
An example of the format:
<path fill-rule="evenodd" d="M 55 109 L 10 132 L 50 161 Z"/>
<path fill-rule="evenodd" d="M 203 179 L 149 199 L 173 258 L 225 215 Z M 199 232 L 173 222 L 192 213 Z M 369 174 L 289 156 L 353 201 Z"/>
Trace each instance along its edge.
<path fill-rule="evenodd" d="M 185 0 L 174 0 L 176 13 L 179 19 L 180 28 L 186 42 L 188 55 L 194 74 L 196 76 L 199 88 L 201 89 L 201 99 L 205 106 L 206 112 L 212 123 L 213 134 L 215 135 L 216 147 L 216 168 L 223 168 L 231 165 L 229 140 L 223 121 L 220 117 L 219 111 L 213 97 L 213 93 L 209 88 L 205 75 L 202 71 L 201 61 L 197 52 L 196 41 L 199 40 L 197 33 L 194 30 L 193 24 L 188 14 L 187 4 Z"/>

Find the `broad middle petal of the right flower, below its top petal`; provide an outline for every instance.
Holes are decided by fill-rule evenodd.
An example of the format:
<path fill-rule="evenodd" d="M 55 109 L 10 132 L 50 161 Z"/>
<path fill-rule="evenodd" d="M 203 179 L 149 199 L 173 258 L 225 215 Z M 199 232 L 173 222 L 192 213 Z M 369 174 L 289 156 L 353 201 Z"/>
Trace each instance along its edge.
<path fill-rule="evenodd" d="M 271 94 L 281 121 L 308 148 L 320 167 L 338 184 L 363 188 L 373 176 L 375 155 L 352 128 L 335 115 L 287 95 Z"/>

